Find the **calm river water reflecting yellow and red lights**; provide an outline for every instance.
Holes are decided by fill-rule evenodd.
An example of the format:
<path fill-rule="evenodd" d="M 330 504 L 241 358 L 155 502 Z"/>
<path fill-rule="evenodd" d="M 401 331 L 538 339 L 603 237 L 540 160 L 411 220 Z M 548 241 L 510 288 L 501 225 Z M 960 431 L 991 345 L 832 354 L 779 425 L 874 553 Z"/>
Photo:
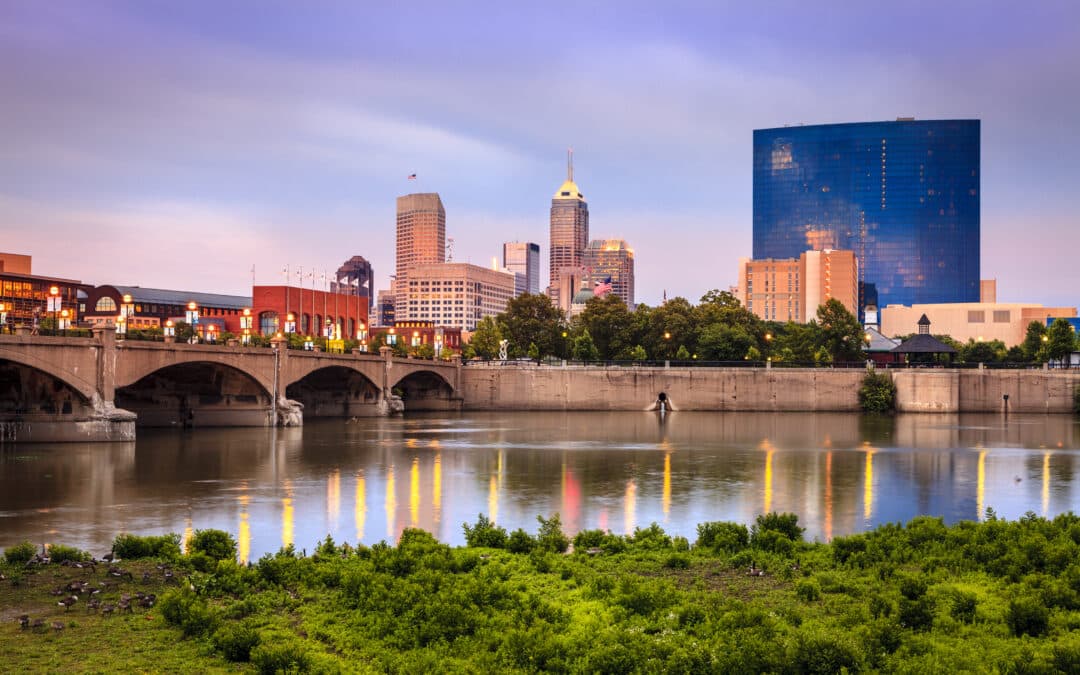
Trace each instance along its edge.
<path fill-rule="evenodd" d="M 139 430 L 137 443 L 0 446 L 0 546 L 105 553 L 121 531 L 227 529 L 241 556 L 281 545 L 461 543 L 489 514 L 536 529 L 691 540 L 704 521 L 792 511 L 828 539 L 918 514 L 1080 511 L 1067 416 L 514 413 L 325 420 L 302 429 Z"/>

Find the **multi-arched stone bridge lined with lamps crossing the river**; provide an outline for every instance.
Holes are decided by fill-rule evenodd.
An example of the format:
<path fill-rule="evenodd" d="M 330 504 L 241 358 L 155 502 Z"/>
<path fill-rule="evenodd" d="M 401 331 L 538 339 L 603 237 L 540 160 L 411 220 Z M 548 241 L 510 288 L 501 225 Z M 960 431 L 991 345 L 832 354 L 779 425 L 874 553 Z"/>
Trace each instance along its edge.
<path fill-rule="evenodd" d="M 0 443 L 132 440 L 135 426 L 299 424 L 459 409 L 461 364 L 239 346 L 0 336 Z"/>

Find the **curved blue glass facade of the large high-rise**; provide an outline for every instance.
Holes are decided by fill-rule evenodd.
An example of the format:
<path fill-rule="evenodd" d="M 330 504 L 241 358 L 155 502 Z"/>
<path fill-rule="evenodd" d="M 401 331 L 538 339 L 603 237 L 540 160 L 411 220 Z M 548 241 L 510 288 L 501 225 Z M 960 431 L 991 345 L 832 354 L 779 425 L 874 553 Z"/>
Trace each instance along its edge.
<path fill-rule="evenodd" d="M 853 251 L 861 307 L 977 302 L 978 204 L 978 120 L 754 132 L 754 259 Z"/>

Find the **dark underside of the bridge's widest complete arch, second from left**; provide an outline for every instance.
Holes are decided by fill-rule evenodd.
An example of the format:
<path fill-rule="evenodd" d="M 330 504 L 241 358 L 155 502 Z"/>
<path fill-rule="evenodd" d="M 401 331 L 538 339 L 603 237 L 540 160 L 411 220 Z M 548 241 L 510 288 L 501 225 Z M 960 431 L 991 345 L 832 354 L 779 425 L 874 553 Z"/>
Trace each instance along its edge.
<path fill-rule="evenodd" d="M 252 375 L 212 361 L 163 366 L 116 394 L 117 407 L 138 415 L 139 427 L 265 427 L 271 400 Z"/>

